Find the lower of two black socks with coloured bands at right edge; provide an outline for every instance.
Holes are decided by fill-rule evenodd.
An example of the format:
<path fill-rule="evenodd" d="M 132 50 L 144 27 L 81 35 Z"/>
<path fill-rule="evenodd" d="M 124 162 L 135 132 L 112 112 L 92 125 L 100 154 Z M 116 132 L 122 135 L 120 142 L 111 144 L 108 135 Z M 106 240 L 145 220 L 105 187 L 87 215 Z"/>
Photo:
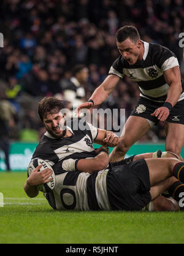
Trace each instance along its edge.
<path fill-rule="evenodd" d="M 171 185 L 168 192 L 172 196 L 172 198 L 174 198 L 174 200 L 178 202 L 180 206 L 180 210 L 183 211 L 184 210 L 184 204 L 183 204 L 184 203 L 184 200 L 183 200 L 184 184 L 179 180 L 177 180 Z"/>

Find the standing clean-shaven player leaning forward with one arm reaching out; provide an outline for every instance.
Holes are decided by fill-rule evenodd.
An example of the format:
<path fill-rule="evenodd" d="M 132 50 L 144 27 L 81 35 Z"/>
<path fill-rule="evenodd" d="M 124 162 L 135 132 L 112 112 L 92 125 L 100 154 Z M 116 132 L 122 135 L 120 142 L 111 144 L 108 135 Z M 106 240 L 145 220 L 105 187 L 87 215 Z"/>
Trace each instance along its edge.
<path fill-rule="evenodd" d="M 104 102 L 119 80 L 127 76 L 139 85 L 140 97 L 110 161 L 123 159 L 131 145 L 159 121 L 164 122 L 166 130 L 165 150 L 180 156 L 184 144 L 184 85 L 175 54 L 162 45 L 140 40 L 134 26 L 118 29 L 116 41 L 121 55 L 112 64 L 109 76 L 77 112 Z"/>

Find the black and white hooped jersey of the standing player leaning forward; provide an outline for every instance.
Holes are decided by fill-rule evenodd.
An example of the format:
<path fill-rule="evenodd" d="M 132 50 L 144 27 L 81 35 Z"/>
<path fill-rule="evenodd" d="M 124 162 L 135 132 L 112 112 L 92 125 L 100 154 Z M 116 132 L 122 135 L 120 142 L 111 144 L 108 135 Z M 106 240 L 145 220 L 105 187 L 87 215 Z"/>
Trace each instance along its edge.
<path fill-rule="evenodd" d="M 119 56 L 112 64 L 109 74 L 120 78 L 129 77 L 137 82 L 140 89 L 140 96 L 151 101 L 164 102 L 167 98 L 167 85 L 163 72 L 167 69 L 179 66 L 178 60 L 173 52 L 159 44 L 148 44 L 144 42 L 144 56 L 142 61 L 130 65 L 128 61 Z M 183 91 L 178 101 L 184 99 Z"/>

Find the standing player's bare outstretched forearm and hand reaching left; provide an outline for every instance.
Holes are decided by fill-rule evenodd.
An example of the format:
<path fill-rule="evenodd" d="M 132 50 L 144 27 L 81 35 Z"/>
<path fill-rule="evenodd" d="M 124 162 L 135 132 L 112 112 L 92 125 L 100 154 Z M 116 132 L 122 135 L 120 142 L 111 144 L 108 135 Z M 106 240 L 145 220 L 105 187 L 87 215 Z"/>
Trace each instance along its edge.
<path fill-rule="evenodd" d="M 90 109 L 93 106 L 97 106 L 105 101 L 107 97 L 112 92 L 113 88 L 117 85 L 120 77 L 115 75 L 109 75 L 106 77 L 104 82 L 99 85 L 98 88 L 94 91 L 93 95 L 91 96 L 92 102 L 86 102 L 79 105 L 77 108 L 76 114 L 79 115 L 82 109 Z"/>

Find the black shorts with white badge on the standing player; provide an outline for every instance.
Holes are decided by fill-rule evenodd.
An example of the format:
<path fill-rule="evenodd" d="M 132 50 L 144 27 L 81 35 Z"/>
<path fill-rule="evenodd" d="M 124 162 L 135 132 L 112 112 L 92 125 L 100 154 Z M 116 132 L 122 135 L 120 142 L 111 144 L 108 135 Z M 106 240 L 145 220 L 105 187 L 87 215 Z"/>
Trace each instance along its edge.
<path fill-rule="evenodd" d="M 154 101 L 150 101 L 149 99 L 145 99 L 143 97 L 139 98 L 137 102 L 136 108 L 132 111 L 131 115 L 136 115 L 137 117 L 146 118 L 157 125 L 159 120 L 157 117 L 152 117 L 151 114 L 158 109 L 158 107 L 163 106 L 164 103 L 156 103 Z M 182 123 L 184 125 L 184 99 L 182 101 L 178 101 L 174 107 L 172 107 L 169 117 L 167 117 L 166 122 L 169 123 Z"/>

